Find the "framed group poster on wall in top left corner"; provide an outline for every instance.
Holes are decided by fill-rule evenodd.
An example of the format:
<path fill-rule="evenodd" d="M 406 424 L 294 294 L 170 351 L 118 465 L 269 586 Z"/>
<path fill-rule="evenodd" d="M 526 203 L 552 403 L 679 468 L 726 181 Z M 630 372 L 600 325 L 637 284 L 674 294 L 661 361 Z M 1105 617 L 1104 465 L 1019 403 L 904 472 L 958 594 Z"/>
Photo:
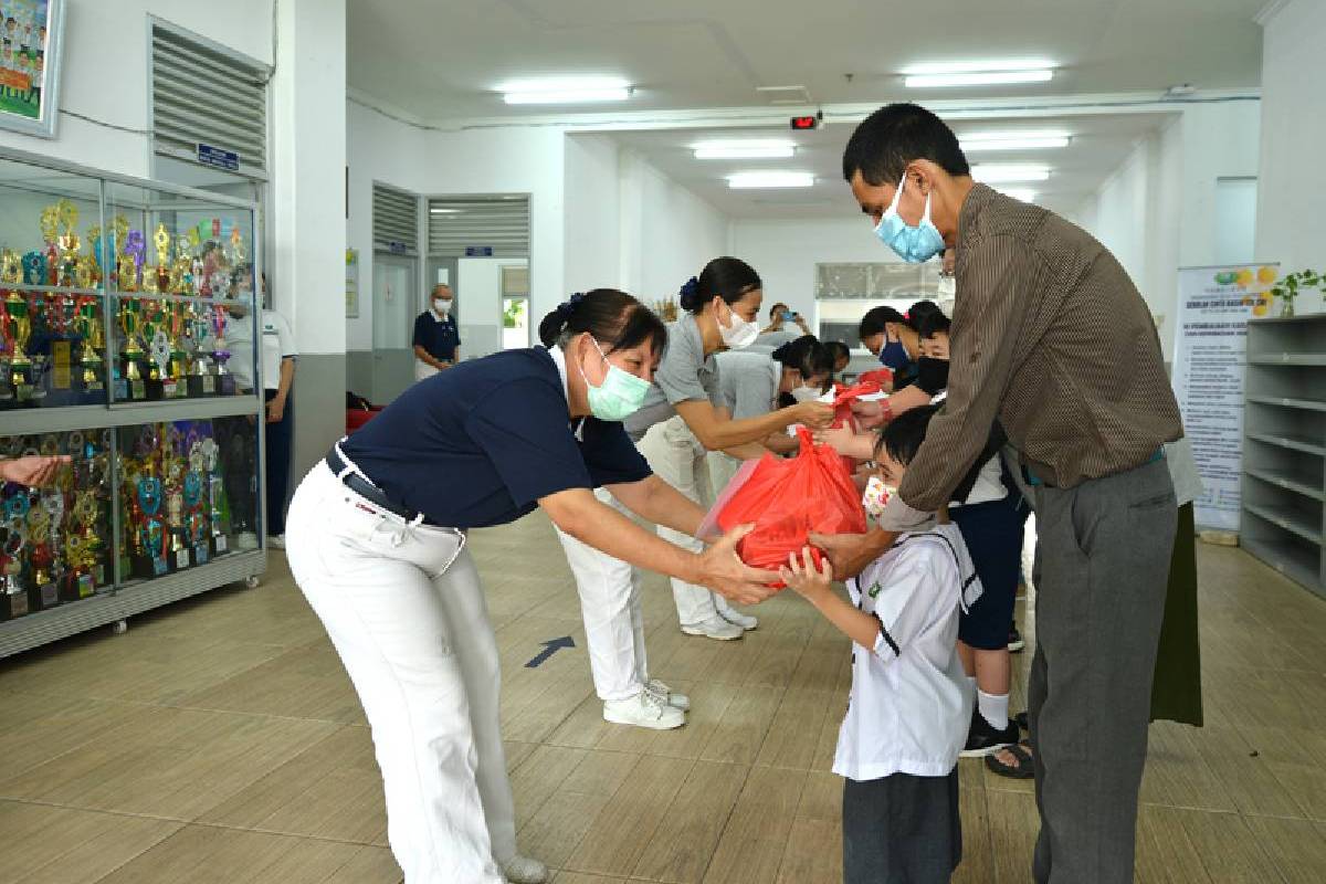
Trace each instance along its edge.
<path fill-rule="evenodd" d="M 0 127 L 54 138 L 64 0 L 5 0 L 0 9 Z"/>

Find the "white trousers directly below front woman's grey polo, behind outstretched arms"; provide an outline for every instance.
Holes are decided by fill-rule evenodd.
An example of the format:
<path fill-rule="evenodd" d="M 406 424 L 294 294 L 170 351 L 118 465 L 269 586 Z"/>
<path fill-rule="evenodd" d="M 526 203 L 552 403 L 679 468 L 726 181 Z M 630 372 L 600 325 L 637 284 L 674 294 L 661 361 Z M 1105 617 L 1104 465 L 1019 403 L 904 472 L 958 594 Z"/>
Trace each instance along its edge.
<path fill-rule="evenodd" d="M 650 427 L 636 444 L 650 469 L 664 482 L 686 494 L 703 509 L 713 506 L 713 486 L 709 484 L 707 452 L 700 440 L 680 415 Z M 671 543 L 703 553 L 704 543 L 690 534 L 674 531 L 671 527 L 658 527 L 659 537 Z M 672 578 L 672 600 L 676 603 L 676 616 L 682 626 L 695 626 L 721 611 L 731 611 L 727 599 L 711 592 L 703 586 Z"/>

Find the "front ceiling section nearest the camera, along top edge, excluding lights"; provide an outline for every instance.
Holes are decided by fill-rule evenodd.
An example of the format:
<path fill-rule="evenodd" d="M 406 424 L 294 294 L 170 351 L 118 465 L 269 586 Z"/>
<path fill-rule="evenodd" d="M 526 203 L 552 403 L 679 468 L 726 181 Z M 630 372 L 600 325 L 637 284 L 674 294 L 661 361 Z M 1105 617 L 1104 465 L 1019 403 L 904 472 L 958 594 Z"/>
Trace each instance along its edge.
<path fill-rule="evenodd" d="M 625 77 L 636 94 L 611 110 L 629 111 L 761 105 L 757 86 L 785 85 L 805 86 L 812 103 L 883 103 L 903 94 L 904 68 L 973 58 L 1045 58 L 1059 70 L 1049 83 L 960 97 L 1240 89 L 1260 82 L 1253 16 L 1265 3 L 349 0 L 347 78 L 428 122 L 545 115 L 549 107 L 503 105 L 496 90 L 553 74 Z"/>

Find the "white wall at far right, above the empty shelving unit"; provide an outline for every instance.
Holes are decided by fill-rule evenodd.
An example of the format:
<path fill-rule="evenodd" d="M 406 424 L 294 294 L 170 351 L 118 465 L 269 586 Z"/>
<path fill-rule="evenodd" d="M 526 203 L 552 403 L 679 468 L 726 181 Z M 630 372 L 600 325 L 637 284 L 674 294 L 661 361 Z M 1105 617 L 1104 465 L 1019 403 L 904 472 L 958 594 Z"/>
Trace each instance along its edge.
<path fill-rule="evenodd" d="M 1326 4 L 1290 0 L 1262 27 L 1257 256 L 1286 272 L 1326 269 Z M 1305 294 L 1294 309 L 1326 302 Z"/>

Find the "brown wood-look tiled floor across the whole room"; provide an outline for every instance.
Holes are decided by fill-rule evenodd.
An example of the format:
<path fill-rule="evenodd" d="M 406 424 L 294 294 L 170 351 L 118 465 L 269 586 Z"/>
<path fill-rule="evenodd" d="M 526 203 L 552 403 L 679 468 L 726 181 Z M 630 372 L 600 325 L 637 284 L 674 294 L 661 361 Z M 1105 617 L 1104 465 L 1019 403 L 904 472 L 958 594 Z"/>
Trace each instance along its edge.
<path fill-rule="evenodd" d="M 473 549 L 503 653 L 522 850 L 557 884 L 841 880 L 827 773 L 847 643 L 792 595 L 743 641 L 688 639 L 659 578 L 652 671 L 690 724 L 605 724 L 574 586 L 541 517 Z M 1200 547 L 1208 726 L 1152 728 L 1138 880 L 1326 880 L 1326 603 L 1236 550 Z M 1029 618 L 1022 616 L 1032 632 Z M 537 669 L 541 641 L 570 635 Z M 1024 708 L 1021 668 L 1013 708 Z M 363 716 L 280 554 L 223 590 L 0 663 L 0 881 L 400 880 Z M 1029 783 L 961 765 L 957 880 L 1029 879 Z"/>

